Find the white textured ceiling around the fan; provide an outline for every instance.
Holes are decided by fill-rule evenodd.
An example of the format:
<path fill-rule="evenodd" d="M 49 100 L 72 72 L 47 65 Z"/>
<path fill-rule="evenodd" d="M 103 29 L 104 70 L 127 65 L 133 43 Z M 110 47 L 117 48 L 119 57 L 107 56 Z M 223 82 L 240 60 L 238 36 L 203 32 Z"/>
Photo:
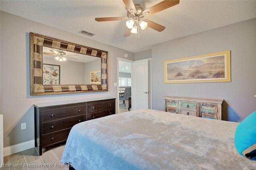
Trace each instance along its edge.
<path fill-rule="evenodd" d="M 147 9 L 162 0 L 134 0 Z M 157 43 L 256 18 L 256 0 L 180 0 L 180 4 L 145 17 L 164 25 L 123 37 L 126 21 L 97 22 L 100 17 L 126 16 L 122 0 L 1 0 L 0 9 L 89 39 L 136 53 Z M 81 30 L 94 33 L 83 35 Z"/>

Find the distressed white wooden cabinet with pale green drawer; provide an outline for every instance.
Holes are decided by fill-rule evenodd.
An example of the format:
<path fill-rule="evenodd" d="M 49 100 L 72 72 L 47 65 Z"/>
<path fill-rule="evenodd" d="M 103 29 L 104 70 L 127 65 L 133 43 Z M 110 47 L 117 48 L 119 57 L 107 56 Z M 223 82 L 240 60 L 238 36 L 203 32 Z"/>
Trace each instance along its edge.
<path fill-rule="evenodd" d="M 221 120 L 223 99 L 164 96 L 164 111 Z"/>

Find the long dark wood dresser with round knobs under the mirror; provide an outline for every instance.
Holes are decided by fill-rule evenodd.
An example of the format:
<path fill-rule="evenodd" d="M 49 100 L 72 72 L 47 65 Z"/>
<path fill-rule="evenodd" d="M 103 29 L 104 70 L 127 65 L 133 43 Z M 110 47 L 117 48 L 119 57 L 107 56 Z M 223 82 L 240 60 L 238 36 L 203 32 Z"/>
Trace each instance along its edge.
<path fill-rule="evenodd" d="M 39 146 L 39 155 L 43 147 L 66 141 L 77 123 L 115 114 L 115 101 L 115 98 L 98 98 L 34 104 L 35 147 Z"/>

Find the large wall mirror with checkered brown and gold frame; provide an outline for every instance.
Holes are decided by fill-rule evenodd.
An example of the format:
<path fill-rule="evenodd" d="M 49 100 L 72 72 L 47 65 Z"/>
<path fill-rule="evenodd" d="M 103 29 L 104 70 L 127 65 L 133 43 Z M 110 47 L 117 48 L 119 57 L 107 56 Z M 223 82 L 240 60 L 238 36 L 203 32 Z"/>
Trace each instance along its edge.
<path fill-rule="evenodd" d="M 84 71 L 76 70 L 79 68 L 78 64 L 84 65 L 84 68 L 81 68 Z M 71 68 L 70 65 L 75 67 Z M 75 73 L 71 72 L 73 70 L 76 70 Z M 76 77 L 78 73 L 83 75 L 77 78 L 79 81 L 66 81 Z M 66 74 L 70 76 L 64 77 Z M 108 51 L 30 32 L 31 96 L 106 91 L 108 91 Z"/>

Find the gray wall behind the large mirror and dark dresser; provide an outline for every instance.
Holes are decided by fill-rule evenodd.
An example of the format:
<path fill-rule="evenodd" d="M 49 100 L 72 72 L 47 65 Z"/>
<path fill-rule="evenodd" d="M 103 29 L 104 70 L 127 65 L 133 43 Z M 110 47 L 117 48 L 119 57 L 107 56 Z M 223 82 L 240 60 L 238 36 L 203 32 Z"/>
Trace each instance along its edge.
<path fill-rule="evenodd" d="M 117 58 L 124 58 L 127 53 L 127 59 L 134 61 L 134 53 L 6 12 L 1 11 L 0 17 L 0 113 L 4 115 L 4 147 L 34 140 L 33 104 L 118 96 L 118 87 L 114 86 L 118 82 Z M 108 92 L 30 96 L 30 31 L 108 51 Z M 21 130 L 24 122 L 27 128 Z"/>

